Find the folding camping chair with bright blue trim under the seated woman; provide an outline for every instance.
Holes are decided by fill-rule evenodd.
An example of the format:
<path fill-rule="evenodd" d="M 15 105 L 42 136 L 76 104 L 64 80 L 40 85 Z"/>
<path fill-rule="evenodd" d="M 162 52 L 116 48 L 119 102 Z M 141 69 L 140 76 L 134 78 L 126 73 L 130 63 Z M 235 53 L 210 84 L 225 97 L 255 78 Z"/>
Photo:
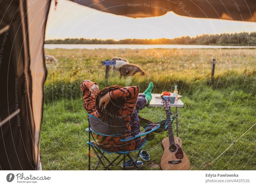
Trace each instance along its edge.
<path fill-rule="evenodd" d="M 108 123 L 104 123 L 102 120 L 100 120 L 97 117 L 94 117 L 90 114 L 88 114 L 88 123 L 89 123 L 89 127 L 86 128 L 86 131 L 89 133 L 89 141 L 87 141 L 88 145 L 89 145 L 89 154 L 88 154 L 88 169 L 91 170 L 91 148 L 94 151 L 95 155 L 97 156 L 97 158 L 99 159 L 96 166 L 94 167 L 94 170 L 97 170 L 97 168 L 99 167 L 99 164 L 101 164 L 104 168 L 104 170 L 109 170 L 109 167 L 111 166 L 115 166 L 114 163 L 119 159 L 119 157 L 122 157 L 121 160 L 119 160 L 116 165 L 118 165 L 119 163 L 121 163 L 122 161 L 124 162 L 124 170 L 125 170 L 125 158 L 128 157 L 132 163 L 133 163 L 133 168 L 132 170 L 134 170 L 135 168 L 138 168 L 136 163 L 138 161 L 139 155 L 140 155 L 140 151 L 142 149 L 142 147 L 146 144 L 146 142 L 148 140 L 152 140 L 152 132 L 155 131 L 157 128 L 160 127 L 159 124 L 149 124 L 145 130 L 143 130 L 142 132 L 140 132 L 139 134 L 135 135 L 135 136 L 127 136 L 125 137 L 125 133 L 126 133 L 126 126 L 124 123 L 123 119 L 118 119 L 115 127 L 108 125 Z M 141 142 L 140 145 L 138 145 L 137 149 L 135 149 L 134 151 L 118 151 L 118 152 L 113 152 L 113 151 L 109 151 L 108 149 L 103 148 L 103 145 L 100 145 L 99 143 L 95 142 L 95 138 L 93 133 L 102 135 L 102 136 L 116 136 L 116 137 L 121 137 L 120 141 L 124 143 L 124 145 L 122 145 L 123 147 L 125 147 L 125 142 L 131 141 L 132 139 L 138 138 L 140 136 L 144 136 L 146 135 L 146 137 L 141 138 Z M 154 135 L 153 135 L 154 136 Z M 93 141 L 91 141 L 91 137 L 93 138 Z M 151 139 L 150 139 L 151 138 Z M 138 155 L 135 159 L 135 161 L 132 159 L 131 153 L 132 152 L 136 152 L 138 151 Z M 117 154 L 117 157 L 110 161 L 106 154 Z"/>

